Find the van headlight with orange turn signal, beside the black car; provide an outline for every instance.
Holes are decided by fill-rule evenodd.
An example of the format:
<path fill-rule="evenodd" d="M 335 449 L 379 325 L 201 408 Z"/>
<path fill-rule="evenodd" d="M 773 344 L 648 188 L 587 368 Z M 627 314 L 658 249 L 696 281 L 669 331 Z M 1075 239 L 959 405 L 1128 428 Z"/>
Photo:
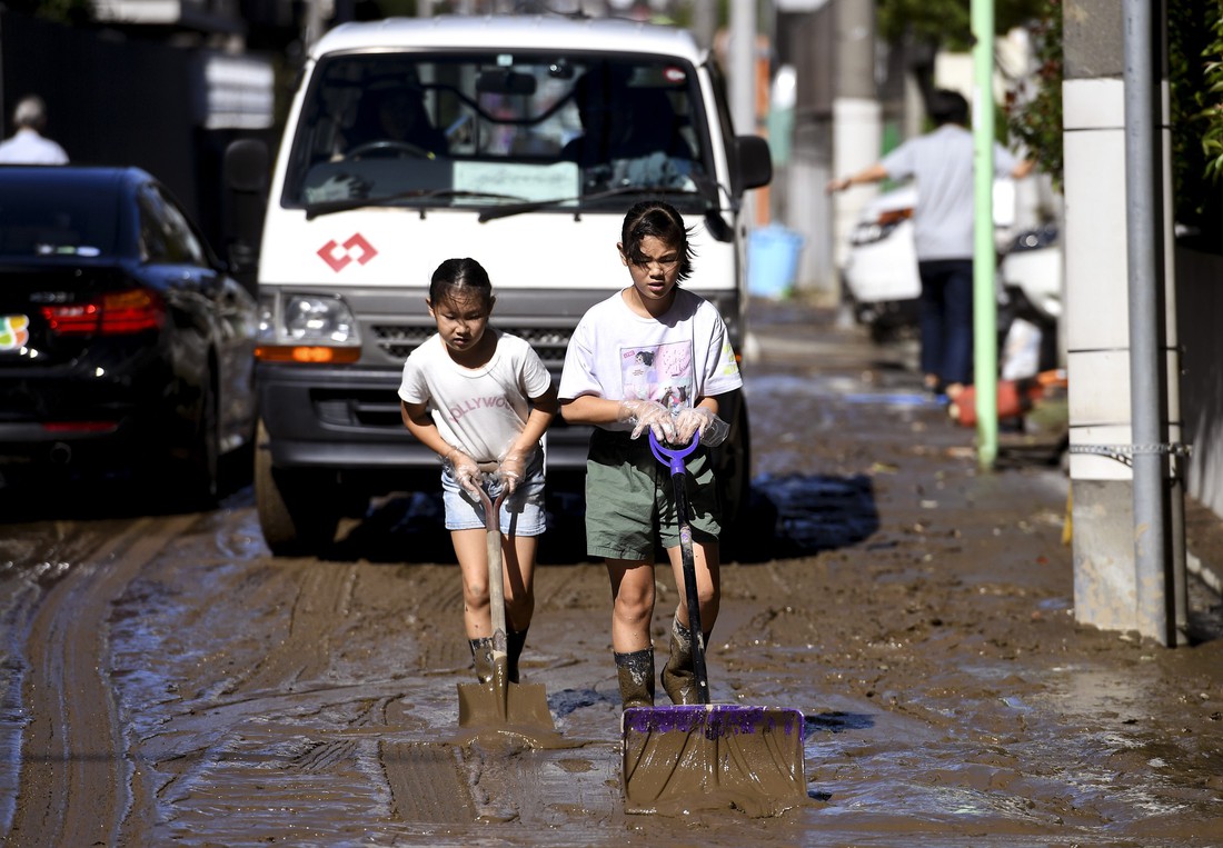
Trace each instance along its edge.
<path fill-rule="evenodd" d="M 256 357 L 272 362 L 356 362 L 361 331 L 334 294 L 268 293 L 259 298 Z"/>

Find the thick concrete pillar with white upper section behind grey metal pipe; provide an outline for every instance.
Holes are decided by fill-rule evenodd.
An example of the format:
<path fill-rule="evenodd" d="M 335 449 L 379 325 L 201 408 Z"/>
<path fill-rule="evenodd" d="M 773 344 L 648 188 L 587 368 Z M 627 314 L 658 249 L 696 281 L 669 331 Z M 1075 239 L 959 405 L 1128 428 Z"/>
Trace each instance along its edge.
<path fill-rule="evenodd" d="M 1075 618 L 1145 633 L 1139 611 L 1134 474 L 1119 457 L 1132 447 L 1129 268 L 1126 250 L 1125 71 L 1117 0 L 1066 0 L 1063 126 L 1065 154 L 1065 310 L 1074 497 Z M 1167 93 L 1162 94 L 1167 103 Z M 1162 145 L 1167 170 L 1167 111 Z M 1167 188 L 1164 189 L 1167 191 Z M 1164 239 L 1170 233 L 1164 233 Z M 1172 255 L 1170 242 L 1167 255 Z M 1167 264 L 1168 294 L 1173 276 Z M 1174 301 L 1173 301 L 1174 303 Z M 1169 315 L 1169 319 L 1172 315 Z M 1167 338 L 1175 327 L 1167 326 Z M 1166 356 L 1168 356 L 1166 353 Z M 1167 360 L 1169 403 L 1177 364 Z M 1179 441 L 1179 404 L 1167 439 Z M 1109 446 L 1123 450 L 1108 453 Z M 1172 554 L 1169 552 L 1169 556 Z"/>

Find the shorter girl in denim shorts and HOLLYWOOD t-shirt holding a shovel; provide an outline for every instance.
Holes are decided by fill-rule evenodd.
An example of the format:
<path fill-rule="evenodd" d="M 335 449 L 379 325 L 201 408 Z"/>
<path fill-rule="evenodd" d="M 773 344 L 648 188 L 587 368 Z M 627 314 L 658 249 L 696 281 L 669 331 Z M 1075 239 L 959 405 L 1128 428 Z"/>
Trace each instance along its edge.
<path fill-rule="evenodd" d="M 544 530 L 543 450 L 556 414 L 556 390 L 527 342 L 489 329 L 493 286 L 475 259 L 448 259 L 433 272 L 426 305 L 438 332 L 404 363 L 404 424 L 443 461 L 446 529 L 462 571 L 464 626 L 482 683 L 493 679 L 492 611 L 478 463 L 497 462 L 509 492 L 501 506 L 501 551 L 509 679 L 534 611 L 536 546 Z"/>

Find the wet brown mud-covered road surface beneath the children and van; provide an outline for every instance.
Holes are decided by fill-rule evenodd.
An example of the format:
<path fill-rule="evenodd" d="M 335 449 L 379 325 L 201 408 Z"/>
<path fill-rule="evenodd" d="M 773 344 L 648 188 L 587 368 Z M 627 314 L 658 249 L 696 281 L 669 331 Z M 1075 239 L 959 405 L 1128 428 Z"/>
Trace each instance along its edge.
<path fill-rule="evenodd" d="M 572 481 L 523 660 L 548 748 L 459 734 L 470 656 L 434 497 L 278 560 L 248 488 L 186 516 L 10 491 L 5 844 L 1223 844 L 1218 598 L 1194 583 L 1194 646 L 1076 627 L 1048 440 L 981 474 L 903 346 L 794 305 L 752 320 L 756 496 L 709 676 L 714 700 L 802 710 L 804 805 L 625 815 L 609 590 Z"/>

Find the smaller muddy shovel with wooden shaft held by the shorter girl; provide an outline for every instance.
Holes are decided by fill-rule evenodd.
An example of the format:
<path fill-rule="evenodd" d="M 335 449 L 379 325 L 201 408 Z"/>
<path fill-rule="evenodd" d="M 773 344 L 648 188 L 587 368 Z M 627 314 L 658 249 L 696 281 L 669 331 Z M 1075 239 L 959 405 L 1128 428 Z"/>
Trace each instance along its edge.
<path fill-rule="evenodd" d="M 483 469 L 482 469 L 483 470 Z M 484 530 L 488 541 L 488 601 L 493 615 L 493 679 L 488 683 L 459 684 L 459 726 L 499 727 L 528 726 L 552 731 L 548 695 L 542 683 L 511 683 L 505 644 L 505 584 L 501 582 L 501 501 L 505 488 L 495 500 L 489 499 L 482 485 L 479 502 L 484 507 Z"/>

